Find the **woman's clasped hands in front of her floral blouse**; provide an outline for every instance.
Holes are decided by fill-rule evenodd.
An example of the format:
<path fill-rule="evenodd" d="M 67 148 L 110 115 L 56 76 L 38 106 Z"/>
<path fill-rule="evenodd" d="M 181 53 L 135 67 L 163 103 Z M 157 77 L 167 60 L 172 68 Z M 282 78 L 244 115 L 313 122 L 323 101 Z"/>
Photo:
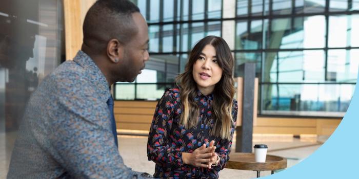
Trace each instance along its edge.
<path fill-rule="evenodd" d="M 182 161 L 188 165 L 210 169 L 212 165 L 217 165 L 218 162 L 218 155 L 214 152 L 215 149 L 214 141 L 211 141 L 208 147 L 203 144 L 192 153 L 183 152 Z"/>

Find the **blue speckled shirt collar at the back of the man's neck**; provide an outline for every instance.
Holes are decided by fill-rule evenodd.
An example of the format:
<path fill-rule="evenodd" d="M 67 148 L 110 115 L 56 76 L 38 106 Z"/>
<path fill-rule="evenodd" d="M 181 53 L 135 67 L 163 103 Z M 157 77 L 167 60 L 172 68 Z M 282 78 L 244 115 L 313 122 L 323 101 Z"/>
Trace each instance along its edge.
<path fill-rule="evenodd" d="M 73 61 L 85 69 L 90 82 L 97 87 L 96 92 L 99 97 L 102 101 L 106 102 L 111 96 L 108 82 L 92 58 L 85 52 L 79 50 L 73 58 Z"/>

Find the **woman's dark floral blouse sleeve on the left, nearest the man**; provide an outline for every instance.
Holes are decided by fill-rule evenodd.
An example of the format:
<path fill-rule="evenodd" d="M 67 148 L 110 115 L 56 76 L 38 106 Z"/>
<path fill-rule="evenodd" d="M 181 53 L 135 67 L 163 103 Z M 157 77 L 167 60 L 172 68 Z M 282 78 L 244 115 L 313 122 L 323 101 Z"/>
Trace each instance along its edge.
<path fill-rule="evenodd" d="M 173 116 L 177 114 L 176 106 L 174 94 L 167 91 L 157 103 L 147 143 L 148 160 L 168 171 L 183 166 L 182 152 L 175 150 L 169 142 Z"/>

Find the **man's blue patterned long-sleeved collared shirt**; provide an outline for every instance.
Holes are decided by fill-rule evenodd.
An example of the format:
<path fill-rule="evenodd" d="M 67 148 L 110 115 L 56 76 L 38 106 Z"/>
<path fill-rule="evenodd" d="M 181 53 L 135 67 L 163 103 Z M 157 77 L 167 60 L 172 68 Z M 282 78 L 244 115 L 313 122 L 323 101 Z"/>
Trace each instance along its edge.
<path fill-rule="evenodd" d="M 84 52 L 59 65 L 29 100 L 8 178 L 141 178 L 114 143 L 110 95 Z"/>

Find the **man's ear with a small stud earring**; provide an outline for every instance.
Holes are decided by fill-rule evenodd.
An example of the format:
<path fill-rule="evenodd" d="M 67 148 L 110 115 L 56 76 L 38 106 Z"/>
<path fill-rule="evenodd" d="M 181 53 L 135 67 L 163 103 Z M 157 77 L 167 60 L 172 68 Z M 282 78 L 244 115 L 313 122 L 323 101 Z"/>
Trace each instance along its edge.
<path fill-rule="evenodd" d="M 122 60 L 123 51 L 124 46 L 120 41 L 115 38 L 108 41 L 106 52 L 113 63 L 118 63 L 118 61 Z"/>

